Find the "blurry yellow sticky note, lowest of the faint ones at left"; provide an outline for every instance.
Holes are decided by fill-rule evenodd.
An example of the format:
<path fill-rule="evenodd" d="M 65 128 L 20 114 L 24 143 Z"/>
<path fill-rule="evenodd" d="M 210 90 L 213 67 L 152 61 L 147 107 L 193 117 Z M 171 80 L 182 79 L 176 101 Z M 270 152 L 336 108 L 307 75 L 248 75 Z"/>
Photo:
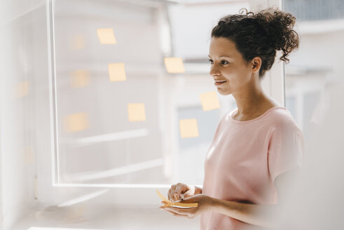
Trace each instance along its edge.
<path fill-rule="evenodd" d="M 78 132 L 89 127 L 86 113 L 76 113 L 64 117 L 64 129 L 67 132 Z"/>

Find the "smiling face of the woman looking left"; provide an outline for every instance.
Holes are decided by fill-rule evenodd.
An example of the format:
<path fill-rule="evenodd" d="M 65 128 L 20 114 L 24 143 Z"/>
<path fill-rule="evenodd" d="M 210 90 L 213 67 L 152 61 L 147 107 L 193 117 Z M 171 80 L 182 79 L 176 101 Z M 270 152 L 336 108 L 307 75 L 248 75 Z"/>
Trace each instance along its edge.
<path fill-rule="evenodd" d="M 209 74 L 221 95 L 230 95 L 245 88 L 252 81 L 251 65 L 235 48 L 235 43 L 222 37 L 213 37 L 209 46 Z"/>

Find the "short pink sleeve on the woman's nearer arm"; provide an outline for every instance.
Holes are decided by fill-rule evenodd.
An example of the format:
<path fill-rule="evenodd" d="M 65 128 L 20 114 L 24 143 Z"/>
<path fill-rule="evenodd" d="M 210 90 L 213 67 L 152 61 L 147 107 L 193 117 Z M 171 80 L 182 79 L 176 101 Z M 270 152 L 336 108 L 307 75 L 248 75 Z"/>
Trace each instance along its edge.
<path fill-rule="evenodd" d="M 304 140 L 294 119 L 280 122 L 270 135 L 268 168 L 271 179 L 293 168 L 302 168 Z"/>

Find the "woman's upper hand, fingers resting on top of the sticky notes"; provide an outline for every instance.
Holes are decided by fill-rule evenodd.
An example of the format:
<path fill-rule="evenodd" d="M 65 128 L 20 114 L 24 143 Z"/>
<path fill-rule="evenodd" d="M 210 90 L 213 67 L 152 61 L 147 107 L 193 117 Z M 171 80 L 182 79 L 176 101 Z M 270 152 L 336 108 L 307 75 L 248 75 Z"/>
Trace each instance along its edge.
<path fill-rule="evenodd" d="M 196 194 L 201 194 L 202 189 L 188 184 L 173 184 L 168 190 L 168 199 L 170 201 L 179 201 L 184 198 L 195 196 Z"/>

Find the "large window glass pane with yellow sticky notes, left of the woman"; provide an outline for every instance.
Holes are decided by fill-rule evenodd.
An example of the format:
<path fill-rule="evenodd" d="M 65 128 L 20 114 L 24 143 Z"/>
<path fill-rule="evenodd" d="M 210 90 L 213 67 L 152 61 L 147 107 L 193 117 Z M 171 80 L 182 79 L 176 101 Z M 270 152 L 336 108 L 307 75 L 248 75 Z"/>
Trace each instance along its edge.
<path fill-rule="evenodd" d="M 235 107 L 209 76 L 210 31 L 244 7 L 55 1 L 59 182 L 202 184 L 216 126 Z M 219 107 L 202 107 L 207 93 Z M 184 120 L 194 121 L 197 135 L 182 133 Z"/>

